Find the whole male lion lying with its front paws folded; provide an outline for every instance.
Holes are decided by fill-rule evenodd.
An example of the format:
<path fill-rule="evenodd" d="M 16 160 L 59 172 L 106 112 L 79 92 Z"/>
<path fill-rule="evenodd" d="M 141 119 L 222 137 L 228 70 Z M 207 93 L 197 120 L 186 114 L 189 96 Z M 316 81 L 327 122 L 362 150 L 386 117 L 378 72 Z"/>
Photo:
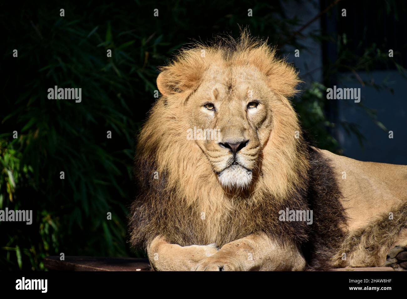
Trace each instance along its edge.
<path fill-rule="evenodd" d="M 247 32 L 162 68 L 130 216 L 153 269 L 407 269 L 407 166 L 311 147 L 288 100 L 298 82 Z"/>

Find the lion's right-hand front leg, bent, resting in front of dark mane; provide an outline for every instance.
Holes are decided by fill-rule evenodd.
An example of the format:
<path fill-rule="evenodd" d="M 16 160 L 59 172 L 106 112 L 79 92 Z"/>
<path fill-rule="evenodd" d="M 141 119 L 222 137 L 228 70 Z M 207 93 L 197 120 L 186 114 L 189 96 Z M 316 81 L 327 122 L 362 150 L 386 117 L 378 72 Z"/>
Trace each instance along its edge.
<path fill-rule="evenodd" d="M 305 259 L 295 244 L 279 245 L 265 234 L 252 234 L 225 244 L 204 258 L 195 271 L 301 271 Z"/>

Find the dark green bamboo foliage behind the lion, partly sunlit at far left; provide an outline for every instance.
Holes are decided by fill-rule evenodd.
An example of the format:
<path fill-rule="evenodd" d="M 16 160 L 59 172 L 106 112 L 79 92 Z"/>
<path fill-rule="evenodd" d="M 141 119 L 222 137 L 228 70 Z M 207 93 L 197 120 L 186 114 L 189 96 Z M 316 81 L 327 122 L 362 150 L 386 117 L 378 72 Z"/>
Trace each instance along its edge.
<path fill-rule="evenodd" d="M 270 44 L 284 37 L 281 46 L 300 48 L 304 36 L 293 34 L 298 20 L 286 18 L 279 2 L 251 6 L 256 17 L 248 18 L 247 9 L 231 1 L 27 2 L 1 9 L 2 66 L 8 75 L 1 83 L 0 209 L 33 210 L 34 220 L 0 223 L 0 268 L 42 270 L 44 256 L 61 252 L 142 254 L 129 249 L 126 217 L 134 191 L 134 136 L 155 100 L 157 66 L 190 38 L 236 36 L 239 25 L 269 37 Z M 157 7 L 159 18 L 153 17 Z M 65 17 L 59 16 L 61 8 Z M 346 39 L 340 46 L 346 48 Z M 337 68 L 340 63 L 356 72 L 383 58 L 374 47 L 352 66 L 346 64 L 352 51 L 341 50 Z M 49 100 L 48 88 L 55 85 L 81 88 L 82 102 Z M 309 134 L 321 147 L 337 150 L 329 135 L 335 124 L 324 113 L 325 91 L 313 82 L 293 102 Z"/>

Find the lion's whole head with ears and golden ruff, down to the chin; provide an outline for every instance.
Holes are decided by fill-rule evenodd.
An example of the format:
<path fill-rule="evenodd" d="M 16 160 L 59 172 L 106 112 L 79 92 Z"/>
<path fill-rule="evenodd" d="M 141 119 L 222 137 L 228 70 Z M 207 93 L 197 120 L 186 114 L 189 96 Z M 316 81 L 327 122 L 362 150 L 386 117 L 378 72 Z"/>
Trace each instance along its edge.
<path fill-rule="evenodd" d="M 229 46 L 181 50 L 158 75 L 162 97 L 140 134 L 140 154 L 191 201 L 259 188 L 286 196 L 308 167 L 288 99 L 298 82 L 291 65 L 245 33 Z"/>

